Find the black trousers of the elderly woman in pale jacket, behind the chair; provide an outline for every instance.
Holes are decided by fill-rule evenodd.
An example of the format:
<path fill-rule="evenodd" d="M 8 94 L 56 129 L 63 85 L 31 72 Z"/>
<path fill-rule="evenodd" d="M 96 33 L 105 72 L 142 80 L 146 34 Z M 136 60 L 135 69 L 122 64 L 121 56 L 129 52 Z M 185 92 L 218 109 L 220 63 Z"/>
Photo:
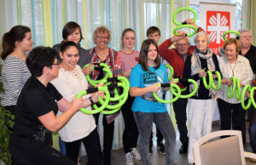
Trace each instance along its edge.
<path fill-rule="evenodd" d="M 242 130 L 245 124 L 246 111 L 241 108 L 241 103 L 230 104 L 224 100 L 218 99 L 218 111 L 220 115 L 220 129 L 230 130 L 231 122 L 233 130 Z M 244 137 L 243 137 L 244 140 Z M 245 142 L 245 141 L 244 141 Z"/>

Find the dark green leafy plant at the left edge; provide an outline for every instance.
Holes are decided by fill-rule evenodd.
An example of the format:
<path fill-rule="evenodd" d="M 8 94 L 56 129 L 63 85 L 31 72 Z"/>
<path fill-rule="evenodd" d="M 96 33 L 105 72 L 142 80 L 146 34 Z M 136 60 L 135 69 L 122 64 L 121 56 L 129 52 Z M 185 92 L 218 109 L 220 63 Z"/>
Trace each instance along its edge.
<path fill-rule="evenodd" d="M 2 64 L 0 64 L 0 100 L 3 94 L 3 83 L 1 81 Z M 0 105 L 0 164 L 4 162 L 6 165 L 11 164 L 11 156 L 9 154 L 9 137 L 13 128 L 14 116 Z"/>

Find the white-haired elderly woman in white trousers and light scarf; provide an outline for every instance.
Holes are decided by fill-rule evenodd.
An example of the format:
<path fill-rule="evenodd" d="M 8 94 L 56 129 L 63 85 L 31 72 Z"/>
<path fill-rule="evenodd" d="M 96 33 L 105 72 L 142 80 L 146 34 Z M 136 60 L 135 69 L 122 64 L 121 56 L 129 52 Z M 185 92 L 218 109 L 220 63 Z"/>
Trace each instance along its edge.
<path fill-rule="evenodd" d="M 207 70 L 220 71 L 217 56 L 209 48 L 210 36 L 205 31 L 200 31 L 195 36 L 196 48 L 185 62 L 183 77 L 191 78 L 198 84 L 198 90 L 194 96 L 188 99 L 189 106 L 189 164 L 194 163 L 192 145 L 202 136 L 211 133 L 212 115 L 218 96 L 217 91 L 209 90 L 203 85 L 202 77 L 207 76 Z M 217 76 L 212 73 L 213 78 Z M 188 85 L 187 92 L 190 93 L 194 86 Z"/>

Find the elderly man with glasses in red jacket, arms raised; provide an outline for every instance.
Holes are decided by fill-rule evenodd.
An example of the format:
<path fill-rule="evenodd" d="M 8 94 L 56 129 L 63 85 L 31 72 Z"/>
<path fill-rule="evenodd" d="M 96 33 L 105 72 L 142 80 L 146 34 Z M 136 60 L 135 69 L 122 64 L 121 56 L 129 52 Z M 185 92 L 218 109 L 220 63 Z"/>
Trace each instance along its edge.
<path fill-rule="evenodd" d="M 198 31 L 203 31 L 201 27 L 198 27 L 195 23 L 191 23 L 193 19 L 185 20 L 187 24 L 195 26 Z M 184 31 L 178 31 L 179 36 L 173 36 L 167 39 L 164 43 L 161 43 L 159 46 L 160 56 L 165 59 L 170 65 L 172 65 L 174 70 L 174 77 L 183 76 L 183 68 L 185 60 L 190 54 L 193 53 L 195 46 L 190 46 L 189 39 L 186 36 Z M 169 49 L 170 46 L 174 43 L 175 48 Z M 184 88 L 181 83 L 178 83 L 180 88 Z M 184 93 L 184 92 L 183 92 Z M 187 129 L 187 99 L 178 99 L 173 103 L 173 109 L 175 111 L 175 117 L 177 121 L 177 128 L 180 134 L 180 141 L 182 146 L 179 150 L 180 154 L 185 154 L 188 151 L 189 138 L 188 138 L 188 129 Z"/>

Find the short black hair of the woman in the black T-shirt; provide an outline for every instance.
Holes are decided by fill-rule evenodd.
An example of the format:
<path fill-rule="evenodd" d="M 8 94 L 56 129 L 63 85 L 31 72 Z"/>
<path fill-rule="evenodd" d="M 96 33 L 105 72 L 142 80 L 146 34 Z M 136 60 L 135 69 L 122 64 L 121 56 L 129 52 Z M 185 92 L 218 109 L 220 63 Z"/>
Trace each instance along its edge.
<path fill-rule="evenodd" d="M 57 59 L 58 53 L 54 48 L 36 47 L 28 54 L 26 65 L 32 76 L 40 77 L 43 74 L 44 66 L 51 67 Z"/>

